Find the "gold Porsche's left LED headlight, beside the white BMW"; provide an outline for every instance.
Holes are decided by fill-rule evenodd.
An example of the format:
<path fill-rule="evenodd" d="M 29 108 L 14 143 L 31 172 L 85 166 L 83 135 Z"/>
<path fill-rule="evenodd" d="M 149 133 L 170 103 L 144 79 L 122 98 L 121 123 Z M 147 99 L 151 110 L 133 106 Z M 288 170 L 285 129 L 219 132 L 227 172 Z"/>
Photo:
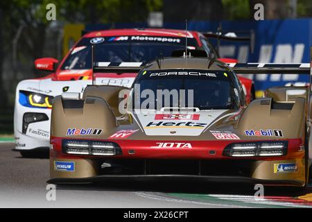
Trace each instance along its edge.
<path fill-rule="evenodd" d="M 63 139 L 62 152 L 73 155 L 121 155 L 121 148 L 114 142 Z"/>

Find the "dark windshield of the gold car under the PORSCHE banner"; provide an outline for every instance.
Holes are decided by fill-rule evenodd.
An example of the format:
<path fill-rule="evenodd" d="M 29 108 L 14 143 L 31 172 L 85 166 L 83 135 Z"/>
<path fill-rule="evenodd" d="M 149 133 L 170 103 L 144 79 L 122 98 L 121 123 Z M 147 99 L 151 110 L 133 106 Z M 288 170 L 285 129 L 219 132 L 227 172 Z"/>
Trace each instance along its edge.
<path fill-rule="evenodd" d="M 225 71 L 179 69 L 144 72 L 139 74 L 132 89 L 132 108 L 234 110 L 239 107 L 237 90 Z"/>

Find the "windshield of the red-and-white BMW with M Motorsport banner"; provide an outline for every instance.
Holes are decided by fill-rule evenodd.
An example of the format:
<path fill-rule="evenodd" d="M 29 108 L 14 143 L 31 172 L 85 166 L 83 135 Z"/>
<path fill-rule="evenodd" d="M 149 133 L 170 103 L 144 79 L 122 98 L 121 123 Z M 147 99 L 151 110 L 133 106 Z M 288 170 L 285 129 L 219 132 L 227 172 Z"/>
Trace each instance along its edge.
<path fill-rule="evenodd" d="M 175 50 L 185 48 L 180 37 L 95 37 L 85 38 L 69 54 L 61 69 L 91 69 L 92 44 L 94 62 L 150 62 L 169 57 Z M 189 49 L 195 49 L 196 40 L 188 39 Z"/>

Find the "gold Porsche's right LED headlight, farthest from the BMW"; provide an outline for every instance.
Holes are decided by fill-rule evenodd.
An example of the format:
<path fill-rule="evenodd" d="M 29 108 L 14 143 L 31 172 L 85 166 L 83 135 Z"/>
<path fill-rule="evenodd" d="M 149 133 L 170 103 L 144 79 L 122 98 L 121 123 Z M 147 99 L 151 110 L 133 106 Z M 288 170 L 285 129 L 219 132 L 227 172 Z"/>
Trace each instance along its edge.
<path fill-rule="evenodd" d="M 223 155 L 229 157 L 270 157 L 287 155 L 287 141 L 243 142 L 229 144 Z"/>

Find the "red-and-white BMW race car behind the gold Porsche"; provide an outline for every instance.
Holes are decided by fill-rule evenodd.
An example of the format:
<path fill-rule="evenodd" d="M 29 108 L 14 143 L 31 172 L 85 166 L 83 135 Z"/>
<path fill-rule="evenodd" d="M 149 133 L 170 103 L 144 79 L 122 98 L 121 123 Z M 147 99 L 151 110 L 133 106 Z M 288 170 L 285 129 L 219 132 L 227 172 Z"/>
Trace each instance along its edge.
<path fill-rule="evenodd" d="M 40 79 L 23 80 L 17 85 L 15 149 L 24 156 L 35 155 L 35 151 L 44 148 L 48 150 L 51 101 L 62 92 L 83 92 L 87 85 L 92 84 L 92 46 L 96 46 L 94 62 L 109 61 L 107 65 L 116 65 L 115 62 L 119 62 L 121 67 L 136 66 L 135 62 L 148 62 L 157 57 L 171 56 L 173 51 L 184 49 L 185 37 L 185 31 L 168 29 L 94 31 L 85 34 L 56 69 L 54 67 L 58 60 L 36 60 L 37 69 L 52 71 L 53 74 Z M 189 31 L 187 39 L 189 49 L 204 49 L 208 56 L 218 58 L 216 50 L 201 33 Z M 130 87 L 136 75 L 134 72 L 111 72 L 94 77 L 97 85 Z M 252 80 L 243 77 L 240 80 L 248 98 L 252 99 Z"/>

